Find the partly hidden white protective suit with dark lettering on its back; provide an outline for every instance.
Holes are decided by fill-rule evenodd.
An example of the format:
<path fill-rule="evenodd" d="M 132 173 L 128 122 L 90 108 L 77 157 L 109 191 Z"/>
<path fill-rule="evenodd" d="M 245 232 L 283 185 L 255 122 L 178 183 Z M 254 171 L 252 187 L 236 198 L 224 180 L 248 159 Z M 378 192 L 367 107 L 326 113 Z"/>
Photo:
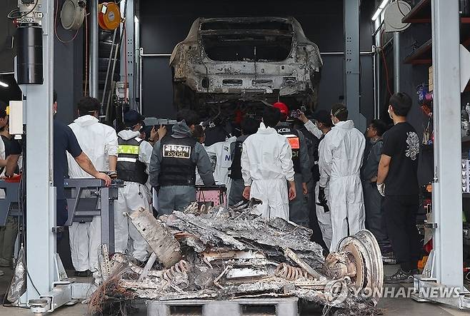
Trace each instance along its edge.
<path fill-rule="evenodd" d="M 230 192 L 231 178 L 229 178 L 231 166 L 231 150 L 230 145 L 236 141 L 236 137 L 228 138 L 226 141 L 219 141 L 209 147 L 204 146 L 209 158 L 216 158 L 216 168 L 214 170 L 214 180 L 218 185 L 226 185 L 227 192 Z"/>

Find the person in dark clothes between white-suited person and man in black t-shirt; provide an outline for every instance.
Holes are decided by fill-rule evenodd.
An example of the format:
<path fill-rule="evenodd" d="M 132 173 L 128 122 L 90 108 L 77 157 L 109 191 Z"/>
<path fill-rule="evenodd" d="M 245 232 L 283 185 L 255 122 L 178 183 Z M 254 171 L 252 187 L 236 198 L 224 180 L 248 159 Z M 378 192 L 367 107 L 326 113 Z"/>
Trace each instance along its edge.
<path fill-rule="evenodd" d="M 386 123 L 381 120 L 373 120 L 366 131 L 366 138 L 371 143 L 367 157 L 364 157 L 362 169 L 362 185 L 364 187 L 364 205 L 366 208 L 366 226 L 374 234 L 381 250 L 390 248 L 386 235 L 385 223 L 382 216 L 382 196 L 376 188 L 377 170 L 382 154 L 382 136 L 386 131 Z"/>

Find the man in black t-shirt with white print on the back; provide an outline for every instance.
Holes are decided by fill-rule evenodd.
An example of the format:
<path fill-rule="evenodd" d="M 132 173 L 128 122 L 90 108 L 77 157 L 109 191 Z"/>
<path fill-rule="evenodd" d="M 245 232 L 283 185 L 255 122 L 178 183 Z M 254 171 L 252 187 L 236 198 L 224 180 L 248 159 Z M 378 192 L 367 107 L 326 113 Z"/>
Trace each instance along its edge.
<path fill-rule="evenodd" d="M 377 175 L 377 188 L 384 195 L 386 230 L 400 269 L 385 278 L 386 283 L 413 282 L 418 273 L 419 137 L 406 122 L 411 98 L 395 93 L 390 98 L 389 115 L 394 126 L 384 135 L 384 146 Z"/>

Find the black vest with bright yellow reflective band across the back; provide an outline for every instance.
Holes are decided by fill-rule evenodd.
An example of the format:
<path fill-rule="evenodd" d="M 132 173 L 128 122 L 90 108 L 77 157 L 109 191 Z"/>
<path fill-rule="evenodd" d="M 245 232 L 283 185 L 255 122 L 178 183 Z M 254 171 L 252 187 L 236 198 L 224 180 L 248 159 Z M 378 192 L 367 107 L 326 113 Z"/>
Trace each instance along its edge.
<path fill-rule="evenodd" d="M 118 138 L 118 159 L 116 165 L 117 178 L 119 180 L 145 184 L 149 175 L 145 172 L 145 163 L 139 160 L 140 138 L 132 138 L 124 141 Z"/>

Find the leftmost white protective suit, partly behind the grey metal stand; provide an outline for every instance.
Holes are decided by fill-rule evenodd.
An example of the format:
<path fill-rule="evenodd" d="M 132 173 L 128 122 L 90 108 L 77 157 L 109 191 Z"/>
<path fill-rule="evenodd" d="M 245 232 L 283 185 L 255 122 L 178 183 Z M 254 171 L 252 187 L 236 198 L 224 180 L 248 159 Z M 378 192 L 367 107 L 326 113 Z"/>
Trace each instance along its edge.
<path fill-rule="evenodd" d="M 117 156 L 116 131 L 99 123 L 94 116 L 80 116 L 70 125 L 81 150 L 86 153 L 96 170 L 109 170 L 109 156 Z M 82 170 L 75 159 L 67 153 L 70 178 L 92 178 Z M 83 193 L 87 194 L 87 193 Z M 69 227 L 72 263 L 76 271 L 98 268 L 99 245 L 101 245 L 101 217 L 95 216 L 88 223 L 72 223 Z"/>

